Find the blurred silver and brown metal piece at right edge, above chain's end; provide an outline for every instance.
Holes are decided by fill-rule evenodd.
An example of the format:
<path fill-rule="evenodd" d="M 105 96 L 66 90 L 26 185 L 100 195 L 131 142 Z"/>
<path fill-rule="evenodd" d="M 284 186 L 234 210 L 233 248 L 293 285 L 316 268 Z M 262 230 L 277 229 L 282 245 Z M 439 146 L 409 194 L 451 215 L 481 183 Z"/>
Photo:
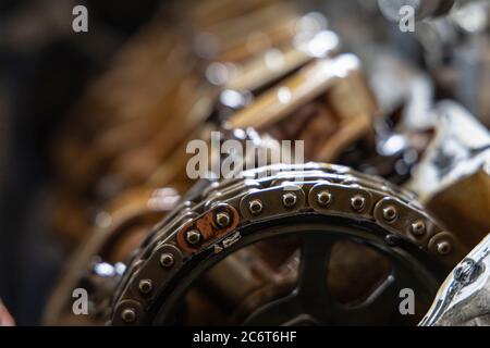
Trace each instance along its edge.
<path fill-rule="evenodd" d="M 407 188 L 471 250 L 490 231 L 490 133 L 461 105 L 436 109 L 436 135 Z"/>

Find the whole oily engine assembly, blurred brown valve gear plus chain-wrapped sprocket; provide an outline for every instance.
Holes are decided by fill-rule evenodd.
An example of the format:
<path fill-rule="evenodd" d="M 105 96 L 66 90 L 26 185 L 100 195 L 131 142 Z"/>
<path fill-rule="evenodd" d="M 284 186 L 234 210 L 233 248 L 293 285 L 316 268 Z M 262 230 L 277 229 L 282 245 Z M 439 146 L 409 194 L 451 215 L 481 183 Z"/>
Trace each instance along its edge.
<path fill-rule="evenodd" d="M 454 1 L 405 2 L 422 18 Z M 401 3 L 379 0 L 384 10 Z M 182 18 L 192 26 L 154 22 L 133 39 L 83 101 L 78 112 L 89 116 L 71 124 L 77 137 L 64 134 L 57 154 L 66 199 L 53 211 L 65 236 L 87 243 L 45 323 L 418 323 L 448 272 L 488 231 L 488 132 L 455 104 L 432 113 L 440 88 L 432 90 L 429 75 L 391 53 L 381 60 L 376 46 L 379 108 L 360 60 L 340 51 L 321 14 L 269 0 L 191 9 Z M 123 76 L 127 90 L 108 96 Z M 302 139 L 307 161 L 348 167 L 281 164 L 217 182 L 213 160 L 224 153 L 213 149 L 212 133 L 259 147 Z M 195 183 L 186 171 L 192 140 L 211 149 L 209 179 L 180 200 Z M 414 173 L 408 188 L 419 197 L 393 185 Z M 95 228 L 89 210 L 98 211 Z M 473 276 L 471 266 L 461 272 Z M 90 298 L 84 318 L 71 308 L 79 287 Z M 399 310 L 406 289 L 416 295 L 416 315 Z"/>

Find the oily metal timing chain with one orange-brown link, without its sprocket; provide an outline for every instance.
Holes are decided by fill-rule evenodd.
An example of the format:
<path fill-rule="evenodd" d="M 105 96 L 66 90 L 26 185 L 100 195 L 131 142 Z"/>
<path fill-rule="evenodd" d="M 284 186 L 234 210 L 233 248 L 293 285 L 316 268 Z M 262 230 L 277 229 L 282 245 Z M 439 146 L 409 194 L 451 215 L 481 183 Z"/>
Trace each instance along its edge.
<path fill-rule="evenodd" d="M 326 192 L 331 195 L 328 204 L 324 199 L 318 200 L 319 197 L 326 197 Z M 286 207 L 283 204 L 285 194 L 294 194 L 294 204 L 293 200 Z M 260 209 L 252 209 L 252 213 L 250 202 Z M 387 220 L 383 216 L 387 208 L 396 209 L 396 215 L 390 215 Z M 217 225 L 215 220 L 223 211 L 232 220 L 231 225 L 225 228 Z M 232 245 L 240 246 L 240 228 L 243 226 L 305 214 L 342 216 L 373 223 L 387 232 L 387 237 L 396 237 L 391 238 L 396 239 L 393 244 L 396 245 L 395 248 L 401 248 L 401 240 L 405 240 L 438 260 L 436 263 L 443 268 L 452 268 L 464 256 L 458 241 L 422 211 L 412 194 L 385 181 L 339 165 L 309 163 L 261 167 L 244 172 L 242 179 L 210 185 L 193 201 L 183 202 L 180 209 L 151 231 L 136 250 L 118 288 L 110 323 L 145 323 L 151 306 L 157 306 L 154 303 L 156 297 L 183 266 L 199 254 L 219 256 Z M 424 234 L 419 233 L 421 224 L 425 227 Z M 415 234 L 414 225 L 417 231 Z M 191 245 L 186 240 L 185 236 L 189 231 L 201 234 L 198 245 Z M 390 238 L 387 238 L 387 243 L 388 239 Z M 441 243 L 451 246 L 448 252 L 440 253 L 437 248 L 431 247 Z M 168 258 L 169 254 L 173 263 L 162 268 L 160 260 L 162 256 Z M 152 282 L 150 294 L 142 294 L 139 290 L 142 279 Z M 134 312 L 136 318 L 124 320 L 126 310 Z"/>

